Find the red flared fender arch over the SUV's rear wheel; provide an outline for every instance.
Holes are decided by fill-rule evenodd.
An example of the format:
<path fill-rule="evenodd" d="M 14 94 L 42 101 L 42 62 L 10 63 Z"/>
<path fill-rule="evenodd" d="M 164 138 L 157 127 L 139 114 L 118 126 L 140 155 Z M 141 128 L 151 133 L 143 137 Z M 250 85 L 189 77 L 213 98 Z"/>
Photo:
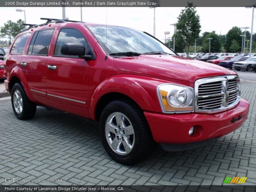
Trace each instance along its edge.
<path fill-rule="evenodd" d="M 8 86 L 10 86 L 10 82 L 12 81 L 12 77 L 14 77 L 14 76 L 16 76 L 16 77 L 18 77 L 18 79 L 20 79 L 20 82 L 28 96 L 28 99 L 35 102 L 34 97 L 29 89 L 27 79 L 26 79 L 23 71 L 18 66 L 12 68 L 10 77 L 9 77 L 9 85 Z M 10 90 L 10 87 L 9 87 L 9 90 Z"/>

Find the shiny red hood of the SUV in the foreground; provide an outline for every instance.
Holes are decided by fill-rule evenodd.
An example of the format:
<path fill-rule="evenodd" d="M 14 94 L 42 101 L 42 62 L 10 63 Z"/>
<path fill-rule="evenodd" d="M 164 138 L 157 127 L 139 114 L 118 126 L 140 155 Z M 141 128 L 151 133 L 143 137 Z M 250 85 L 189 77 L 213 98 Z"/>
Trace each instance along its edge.
<path fill-rule="evenodd" d="M 229 69 L 211 63 L 171 55 L 140 55 L 139 57 L 115 58 L 114 65 L 120 71 L 190 83 L 210 76 L 237 75 Z"/>

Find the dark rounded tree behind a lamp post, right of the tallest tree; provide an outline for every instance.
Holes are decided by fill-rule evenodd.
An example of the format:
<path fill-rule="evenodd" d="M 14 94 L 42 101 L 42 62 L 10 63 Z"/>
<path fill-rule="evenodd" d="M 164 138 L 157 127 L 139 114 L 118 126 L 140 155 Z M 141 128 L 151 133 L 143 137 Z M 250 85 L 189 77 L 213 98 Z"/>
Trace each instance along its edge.
<path fill-rule="evenodd" d="M 209 52 L 209 39 L 211 39 L 211 52 L 220 52 L 221 44 L 220 44 L 220 37 L 215 33 L 215 31 L 212 31 L 204 38 L 203 47 L 201 49 L 201 52 Z"/>

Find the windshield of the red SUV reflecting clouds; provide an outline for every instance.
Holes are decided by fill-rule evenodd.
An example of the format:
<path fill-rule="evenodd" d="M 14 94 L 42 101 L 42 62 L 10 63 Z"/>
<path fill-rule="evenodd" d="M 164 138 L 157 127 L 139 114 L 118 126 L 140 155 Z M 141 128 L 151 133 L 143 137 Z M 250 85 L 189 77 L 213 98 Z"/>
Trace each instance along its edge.
<path fill-rule="evenodd" d="M 165 52 L 176 55 L 153 37 L 135 29 L 108 26 L 106 39 L 106 26 L 88 25 L 87 27 L 108 54 Z"/>

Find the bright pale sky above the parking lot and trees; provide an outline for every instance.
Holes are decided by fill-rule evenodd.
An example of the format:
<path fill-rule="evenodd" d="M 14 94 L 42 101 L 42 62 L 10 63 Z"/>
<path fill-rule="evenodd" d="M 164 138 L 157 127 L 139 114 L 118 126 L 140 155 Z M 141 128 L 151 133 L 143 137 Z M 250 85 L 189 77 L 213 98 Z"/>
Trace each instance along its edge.
<path fill-rule="evenodd" d="M 177 17 L 184 7 L 156 7 L 156 37 L 164 41 L 164 32 L 169 31 L 172 36 L 174 27 L 170 24 L 177 22 Z M 40 17 L 62 18 L 61 7 L 0 7 L 0 26 L 7 20 L 24 20 L 30 24 L 44 23 Z M 252 9 L 244 7 L 197 7 L 200 16 L 201 33 L 216 31 L 226 34 L 233 26 L 250 27 L 252 25 Z M 80 20 L 80 7 L 67 7 L 66 16 L 69 20 Z M 148 7 L 83 7 L 83 21 L 108 25 L 117 25 L 146 31 L 153 35 L 154 10 Z M 256 32 L 256 12 L 254 13 L 253 33 Z"/>

